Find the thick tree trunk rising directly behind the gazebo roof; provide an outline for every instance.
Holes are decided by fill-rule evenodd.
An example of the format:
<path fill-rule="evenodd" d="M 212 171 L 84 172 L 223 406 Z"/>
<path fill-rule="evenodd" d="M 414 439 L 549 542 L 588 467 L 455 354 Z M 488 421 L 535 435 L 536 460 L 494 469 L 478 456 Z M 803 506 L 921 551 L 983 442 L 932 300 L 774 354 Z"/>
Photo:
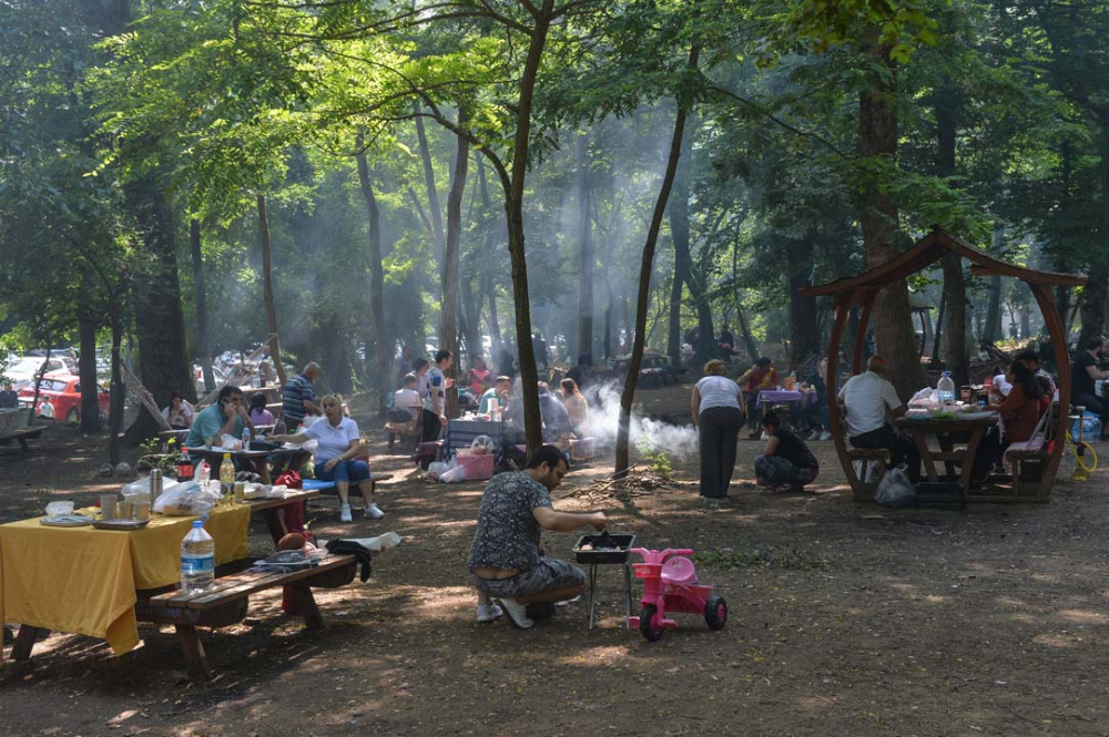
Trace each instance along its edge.
<path fill-rule="evenodd" d="M 897 156 L 897 64 L 889 58 L 889 48 L 878 40 L 877 27 L 867 30 L 865 51 L 874 69 L 867 72 L 868 86 L 858 95 L 859 154 L 884 160 L 892 166 Z M 869 268 L 901 253 L 895 243 L 897 205 L 882 191 L 879 183 L 865 185 L 858 219 Z M 907 401 L 924 385 L 925 377 L 913 329 L 908 287 L 904 282 L 878 294 L 872 318 L 875 339 L 889 364 L 893 383 L 902 400 Z M 865 330 L 866 326 L 861 329 Z"/>

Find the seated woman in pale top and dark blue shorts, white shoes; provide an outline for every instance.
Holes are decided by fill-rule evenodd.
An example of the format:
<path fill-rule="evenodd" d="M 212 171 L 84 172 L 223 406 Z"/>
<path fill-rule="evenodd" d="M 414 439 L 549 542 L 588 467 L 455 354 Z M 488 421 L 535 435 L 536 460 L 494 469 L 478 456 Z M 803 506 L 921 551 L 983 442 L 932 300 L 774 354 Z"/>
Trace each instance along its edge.
<path fill-rule="evenodd" d="M 317 440 L 316 479 L 334 481 L 339 494 L 339 519 L 350 522 L 350 485 L 362 490 L 366 500 L 366 516 L 380 520 L 385 512 L 374 503 L 374 487 L 369 483 L 369 465 L 365 461 L 354 460 L 362 454 L 362 434 L 358 423 L 349 417 L 343 417 L 343 406 L 334 395 L 327 395 L 322 401 L 324 417 L 308 426 L 304 432 L 295 436 L 273 436 L 275 442 L 303 443 Z"/>

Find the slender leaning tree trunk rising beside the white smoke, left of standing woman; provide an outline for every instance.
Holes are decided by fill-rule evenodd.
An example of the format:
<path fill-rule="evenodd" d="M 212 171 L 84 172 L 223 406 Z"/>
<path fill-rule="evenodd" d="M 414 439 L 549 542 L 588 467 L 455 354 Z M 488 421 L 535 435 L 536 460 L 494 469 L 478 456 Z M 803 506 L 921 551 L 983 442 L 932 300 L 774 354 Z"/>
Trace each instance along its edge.
<path fill-rule="evenodd" d="M 686 69 L 695 70 L 701 50 L 694 44 L 690 49 Z M 670 154 L 667 156 L 667 171 L 659 187 L 659 197 L 654 202 L 651 215 L 651 226 L 643 244 L 643 259 L 639 268 L 639 295 L 635 301 L 635 337 L 631 358 L 628 361 L 628 376 L 624 377 L 623 393 L 620 395 L 620 426 L 617 430 L 615 462 L 613 475 L 622 479 L 628 475 L 631 464 L 631 408 L 635 401 L 635 385 L 639 381 L 639 367 L 643 362 L 643 347 L 647 337 L 647 309 L 651 297 L 651 273 L 654 270 L 654 248 L 659 243 L 659 232 L 662 229 L 662 218 L 667 214 L 667 202 L 678 174 L 678 162 L 682 155 L 682 140 L 685 133 L 685 115 L 691 104 L 690 95 L 683 92 L 678 98 L 678 110 L 674 115 L 674 133 L 670 141 Z M 675 238 L 676 240 L 676 238 Z"/>

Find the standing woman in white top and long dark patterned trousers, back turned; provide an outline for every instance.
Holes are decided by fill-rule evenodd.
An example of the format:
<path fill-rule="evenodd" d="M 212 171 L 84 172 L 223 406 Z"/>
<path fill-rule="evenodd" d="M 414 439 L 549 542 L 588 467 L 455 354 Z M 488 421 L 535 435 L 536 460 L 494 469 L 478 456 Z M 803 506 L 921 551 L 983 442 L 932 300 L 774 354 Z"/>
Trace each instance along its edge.
<path fill-rule="evenodd" d="M 735 446 L 743 427 L 740 386 L 724 376 L 724 361 L 704 365 L 704 378 L 693 387 L 690 413 L 699 428 L 701 451 L 701 495 L 728 497 L 735 472 Z"/>

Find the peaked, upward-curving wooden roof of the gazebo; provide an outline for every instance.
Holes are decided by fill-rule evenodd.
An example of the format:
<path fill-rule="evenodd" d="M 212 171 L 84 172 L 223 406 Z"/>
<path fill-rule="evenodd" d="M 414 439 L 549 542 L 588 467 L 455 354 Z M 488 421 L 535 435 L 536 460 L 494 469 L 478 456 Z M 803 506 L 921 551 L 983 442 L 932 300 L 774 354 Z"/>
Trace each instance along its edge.
<path fill-rule="evenodd" d="M 818 297 L 822 295 L 842 295 L 854 289 L 881 289 L 889 284 L 901 282 L 917 272 L 926 269 L 944 257 L 944 254 L 956 253 L 970 262 L 970 273 L 975 276 L 1011 276 L 1028 284 L 1048 286 L 1078 287 L 1086 284 L 1085 274 L 1054 274 L 1037 272 L 1007 262 L 999 260 L 969 246 L 939 228 L 934 229 L 918 240 L 908 250 L 898 254 L 881 266 L 857 276 L 849 276 L 818 286 L 805 287 L 801 294 Z"/>

